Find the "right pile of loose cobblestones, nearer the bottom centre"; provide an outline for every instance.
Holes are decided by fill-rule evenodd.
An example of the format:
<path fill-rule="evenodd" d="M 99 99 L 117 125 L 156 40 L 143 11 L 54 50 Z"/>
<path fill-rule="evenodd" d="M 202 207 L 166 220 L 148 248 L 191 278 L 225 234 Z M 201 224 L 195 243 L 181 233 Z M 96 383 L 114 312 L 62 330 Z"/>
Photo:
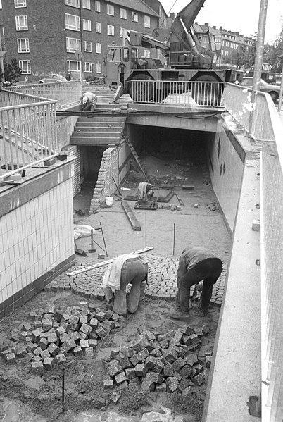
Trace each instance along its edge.
<path fill-rule="evenodd" d="M 189 395 L 192 386 L 203 384 L 204 373 L 210 368 L 212 352 L 200 352 L 202 337 L 207 334 L 204 325 L 183 325 L 165 335 L 145 330 L 130 347 L 111 352 L 104 389 L 131 387 L 142 394 L 156 391 Z"/>

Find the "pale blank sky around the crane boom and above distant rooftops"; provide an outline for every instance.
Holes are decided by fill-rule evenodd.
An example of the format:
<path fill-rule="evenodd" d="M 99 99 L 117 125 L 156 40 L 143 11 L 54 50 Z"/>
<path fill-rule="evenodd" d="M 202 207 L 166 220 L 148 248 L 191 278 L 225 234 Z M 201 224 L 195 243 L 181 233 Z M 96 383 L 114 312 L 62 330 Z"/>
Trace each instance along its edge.
<path fill-rule="evenodd" d="M 180 12 L 190 0 L 160 0 L 166 13 Z M 173 6 L 174 4 L 174 6 Z M 173 6 L 173 7 L 172 7 Z M 239 32 L 253 37 L 258 32 L 260 0 L 206 0 L 196 18 L 201 24 L 222 26 L 225 30 Z M 265 44 L 277 39 L 283 25 L 283 0 L 268 0 L 268 14 L 265 24 Z"/>

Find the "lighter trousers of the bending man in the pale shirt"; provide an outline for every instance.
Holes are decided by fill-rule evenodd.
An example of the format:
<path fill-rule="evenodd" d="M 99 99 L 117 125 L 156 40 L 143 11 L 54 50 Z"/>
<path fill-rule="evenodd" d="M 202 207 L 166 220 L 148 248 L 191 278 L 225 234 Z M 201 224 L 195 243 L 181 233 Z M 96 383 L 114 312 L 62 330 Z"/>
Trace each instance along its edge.
<path fill-rule="evenodd" d="M 139 306 L 139 301 L 144 297 L 146 290 L 147 264 L 139 258 L 130 258 L 125 261 L 121 270 L 120 290 L 115 291 L 113 312 L 118 315 L 134 314 Z M 130 284 L 131 290 L 126 297 L 126 286 Z"/>

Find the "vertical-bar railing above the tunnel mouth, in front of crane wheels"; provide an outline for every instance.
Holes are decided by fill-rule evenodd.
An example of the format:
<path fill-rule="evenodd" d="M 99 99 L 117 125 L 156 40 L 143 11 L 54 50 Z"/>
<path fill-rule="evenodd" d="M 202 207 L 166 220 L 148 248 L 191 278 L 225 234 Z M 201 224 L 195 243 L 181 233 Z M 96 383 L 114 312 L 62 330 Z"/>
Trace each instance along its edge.
<path fill-rule="evenodd" d="M 140 103 L 218 107 L 224 85 L 225 82 L 132 80 L 128 91 L 130 97 Z"/>

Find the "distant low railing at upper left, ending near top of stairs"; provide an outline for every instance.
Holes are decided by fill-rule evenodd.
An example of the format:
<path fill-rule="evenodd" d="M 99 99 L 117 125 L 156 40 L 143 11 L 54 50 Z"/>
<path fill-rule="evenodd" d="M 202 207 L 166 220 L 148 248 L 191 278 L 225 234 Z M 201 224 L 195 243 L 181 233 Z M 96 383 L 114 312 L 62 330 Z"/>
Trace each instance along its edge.
<path fill-rule="evenodd" d="M 57 108 L 80 101 L 82 95 L 82 85 L 78 80 L 51 82 L 49 84 L 15 85 L 6 89 L 13 92 L 54 99 L 57 101 Z"/>

